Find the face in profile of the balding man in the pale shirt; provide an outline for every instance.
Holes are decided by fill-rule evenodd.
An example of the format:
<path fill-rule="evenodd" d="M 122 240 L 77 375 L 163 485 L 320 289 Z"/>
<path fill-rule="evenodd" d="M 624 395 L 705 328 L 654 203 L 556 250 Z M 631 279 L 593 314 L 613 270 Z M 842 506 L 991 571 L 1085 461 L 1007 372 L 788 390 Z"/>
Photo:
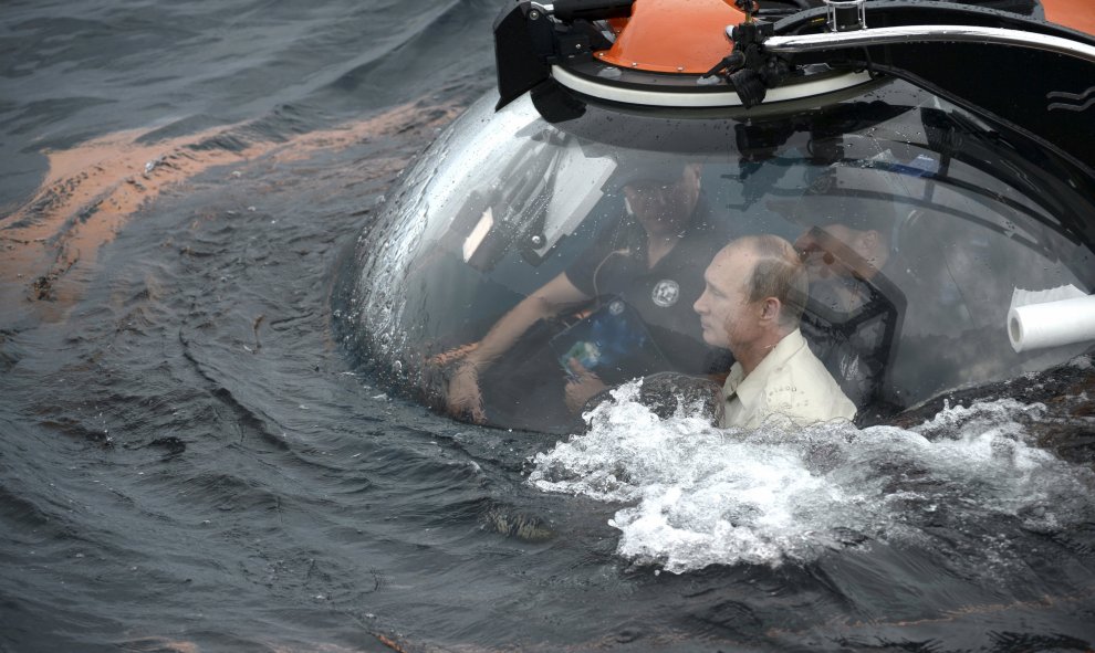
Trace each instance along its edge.
<path fill-rule="evenodd" d="M 741 247 L 722 250 L 703 273 L 703 294 L 692 305 L 700 316 L 703 341 L 741 351 L 761 334 L 759 306 L 749 302 L 745 285 L 755 256 Z"/>

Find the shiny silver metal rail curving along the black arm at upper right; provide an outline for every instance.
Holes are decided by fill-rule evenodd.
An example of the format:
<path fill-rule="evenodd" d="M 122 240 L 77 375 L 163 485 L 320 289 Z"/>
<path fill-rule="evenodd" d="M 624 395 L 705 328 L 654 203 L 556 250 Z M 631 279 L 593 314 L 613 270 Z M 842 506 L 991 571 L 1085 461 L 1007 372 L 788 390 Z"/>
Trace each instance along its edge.
<path fill-rule="evenodd" d="M 769 36 L 764 41 L 764 49 L 779 54 L 795 54 L 800 52 L 817 52 L 869 45 L 894 45 L 910 42 L 1018 45 L 1074 56 L 1095 63 L 1095 46 L 1085 43 L 1077 43 L 1068 39 L 1049 34 L 978 25 L 901 25 L 894 28 L 869 28 L 853 32 Z"/>

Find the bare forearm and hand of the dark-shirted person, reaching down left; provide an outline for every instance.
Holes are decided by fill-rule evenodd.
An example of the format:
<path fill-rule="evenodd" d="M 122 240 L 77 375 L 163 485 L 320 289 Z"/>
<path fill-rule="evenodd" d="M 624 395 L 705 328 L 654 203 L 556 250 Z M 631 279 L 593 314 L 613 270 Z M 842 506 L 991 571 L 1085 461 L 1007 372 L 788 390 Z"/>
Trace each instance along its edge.
<path fill-rule="evenodd" d="M 588 299 L 590 296 L 575 287 L 565 274 L 560 274 L 522 299 L 494 323 L 480 340 L 479 347 L 465 358 L 449 380 L 446 396 L 448 411 L 458 417 L 470 414 L 476 422 L 482 422 L 486 414 L 479 390 L 479 375 L 509 351 L 538 320 L 559 315 Z"/>

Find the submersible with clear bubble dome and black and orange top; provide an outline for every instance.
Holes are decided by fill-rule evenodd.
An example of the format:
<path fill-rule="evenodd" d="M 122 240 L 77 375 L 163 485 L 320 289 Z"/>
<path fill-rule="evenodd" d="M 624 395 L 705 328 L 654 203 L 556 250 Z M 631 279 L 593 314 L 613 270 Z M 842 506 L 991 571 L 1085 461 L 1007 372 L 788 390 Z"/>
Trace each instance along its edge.
<path fill-rule="evenodd" d="M 764 233 L 800 250 L 802 331 L 861 425 L 1061 365 L 1095 325 L 1023 347 L 1009 315 L 1095 287 L 1088 13 L 1067 0 L 508 3 L 497 91 L 358 239 L 350 338 L 458 419 L 566 430 L 582 408 L 572 358 L 602 387 L 724 377 L 732 359 L 702 341 L 692 304 L 717 245 Z M 648 253 L 644 192 L 686 215 L 692 249 L 606 292 L 613 256 Z M 557 280 L 569 294 L 551 294 Z M 536 312 L 514 326 L 522 307 Z M 452 410 L 469 368 L 478 410 Z"/>

